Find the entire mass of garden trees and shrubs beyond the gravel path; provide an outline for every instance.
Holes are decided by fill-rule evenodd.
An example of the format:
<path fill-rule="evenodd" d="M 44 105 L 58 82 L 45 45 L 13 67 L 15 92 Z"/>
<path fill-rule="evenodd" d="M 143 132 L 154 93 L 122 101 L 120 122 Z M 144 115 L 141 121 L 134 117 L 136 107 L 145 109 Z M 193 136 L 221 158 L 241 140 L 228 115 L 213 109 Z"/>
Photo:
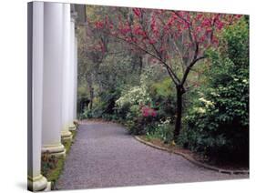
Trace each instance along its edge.
<path fill-rule="evenodd" d="M 87 5 L 77 27 L 80 118 L 247 161 L 248 25 L 242 15 Z"/>

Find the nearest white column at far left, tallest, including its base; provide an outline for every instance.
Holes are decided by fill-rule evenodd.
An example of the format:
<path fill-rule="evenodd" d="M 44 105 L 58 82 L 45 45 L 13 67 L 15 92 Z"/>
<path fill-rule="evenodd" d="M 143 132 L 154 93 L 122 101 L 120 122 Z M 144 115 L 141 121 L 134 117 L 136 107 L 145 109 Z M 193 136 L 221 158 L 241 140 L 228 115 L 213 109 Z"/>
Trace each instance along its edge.
<path fill-rule="evenodd" d="M 27 185 L 32 191 L 45 190 L 41 175 L 44 3 L 28 4 L 28 133 Z"/>

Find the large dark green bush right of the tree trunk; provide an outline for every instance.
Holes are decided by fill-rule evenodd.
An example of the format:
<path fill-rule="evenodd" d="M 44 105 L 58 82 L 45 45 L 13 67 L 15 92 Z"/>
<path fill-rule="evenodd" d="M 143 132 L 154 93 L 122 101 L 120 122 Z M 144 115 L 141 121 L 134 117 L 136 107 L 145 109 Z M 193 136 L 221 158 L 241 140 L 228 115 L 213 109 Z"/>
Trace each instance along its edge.
<path fill-rule="evenodd" d="M 210 50 L 209 83 L 186 117 L 179 143 L 222 160 L 249 160 L 249 47 L 244 21 L 224 31 Z M 235 54 L 239 53 L 239 54 Z"/>

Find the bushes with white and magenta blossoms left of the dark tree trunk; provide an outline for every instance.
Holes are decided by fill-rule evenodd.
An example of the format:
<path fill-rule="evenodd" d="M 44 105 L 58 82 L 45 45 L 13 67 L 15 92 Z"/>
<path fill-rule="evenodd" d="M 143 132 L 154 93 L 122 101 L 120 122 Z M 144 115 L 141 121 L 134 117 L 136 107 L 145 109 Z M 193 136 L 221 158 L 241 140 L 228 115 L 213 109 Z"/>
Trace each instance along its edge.
<path fill-rule="evenodd" d="M 149 71 L 150 72 L 150 71 Z M 150 75 L 150 73 L 149 73 Z M 148 71 L 140 79 L 140 86 L 133 86 L 125 90 L 116 101 L 118 117 L 121 117 L 131 134 L 148 134 L 169 140 L 170 126 L 159 125 L 160 119 L 165 120 L 169 114 L 174 115 L 171 92 L 172 85 L 169 78 L 148 86 L 146 83 Z M 168 119 L 169 122 L 172 119 Z M 169 123 L 170 125 L 170 123 Z"/>

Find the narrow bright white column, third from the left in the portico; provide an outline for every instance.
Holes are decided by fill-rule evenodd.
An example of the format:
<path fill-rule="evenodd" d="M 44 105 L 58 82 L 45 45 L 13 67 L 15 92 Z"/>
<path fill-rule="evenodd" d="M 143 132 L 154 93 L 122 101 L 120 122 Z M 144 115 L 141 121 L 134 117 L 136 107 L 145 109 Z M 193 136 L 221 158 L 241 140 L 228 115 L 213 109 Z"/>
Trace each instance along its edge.
<path fill-rule="evenodd" d="M 63 140 L 71 140 L 72 134 L 69 131 L 69 79 L 70 79 L 70 4 L 63 4 L 63 95 L 62 95 L 62 130 Z"/>

